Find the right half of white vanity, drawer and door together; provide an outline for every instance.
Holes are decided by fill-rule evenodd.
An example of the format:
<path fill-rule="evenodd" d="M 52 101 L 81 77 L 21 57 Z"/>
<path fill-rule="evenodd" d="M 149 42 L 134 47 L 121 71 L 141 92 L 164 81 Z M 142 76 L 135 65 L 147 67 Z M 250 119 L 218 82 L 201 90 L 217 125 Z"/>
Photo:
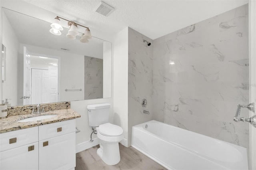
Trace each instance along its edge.
<path fill-rule="evenodd" d="M 39 127 L 39 170 L 70 170 L 76 166 L 76 121 Z"/>

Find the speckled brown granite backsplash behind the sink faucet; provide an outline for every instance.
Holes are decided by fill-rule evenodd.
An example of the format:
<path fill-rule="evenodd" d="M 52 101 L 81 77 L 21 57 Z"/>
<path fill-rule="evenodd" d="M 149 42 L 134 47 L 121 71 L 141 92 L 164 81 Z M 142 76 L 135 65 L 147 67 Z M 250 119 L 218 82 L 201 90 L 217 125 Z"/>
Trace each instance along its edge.
<path fill-rule="evenodd" d="M 70 102 L 40 104 L 40 110 L 42 110 L 42 106 L 46 106 L 46 107 L 44 107 L 44 110 L 46 112 L 60 110 L 60 109 L 70 109 Z M 32 109 L 28 109 L 28 107 L 36 108 L 36 105 L 8 107 L 7 108 L 7 116 L 9 117 L 9 116 L 30 114 L 30 113 L 32 113 Z"/>

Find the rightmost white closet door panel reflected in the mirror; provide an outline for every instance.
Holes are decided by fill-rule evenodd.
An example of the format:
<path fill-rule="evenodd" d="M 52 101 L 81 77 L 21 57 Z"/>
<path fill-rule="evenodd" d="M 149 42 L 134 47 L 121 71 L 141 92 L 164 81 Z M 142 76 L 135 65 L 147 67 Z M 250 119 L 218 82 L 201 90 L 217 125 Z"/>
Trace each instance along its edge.
<path fill-rule="evenodd" d="M 58 102 L 58 67 L 48 67 L 50 103 Z"/>

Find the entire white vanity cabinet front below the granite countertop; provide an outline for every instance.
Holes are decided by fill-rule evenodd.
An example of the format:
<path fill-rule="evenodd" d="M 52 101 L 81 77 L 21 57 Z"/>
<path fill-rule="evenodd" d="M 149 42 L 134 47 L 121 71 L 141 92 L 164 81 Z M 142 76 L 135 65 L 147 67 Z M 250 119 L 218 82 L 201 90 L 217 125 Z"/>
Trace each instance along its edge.
<path fill-rule="evenodd" d="M 75 119 L 0 134 L 0 170 L 74 170 Z"/>

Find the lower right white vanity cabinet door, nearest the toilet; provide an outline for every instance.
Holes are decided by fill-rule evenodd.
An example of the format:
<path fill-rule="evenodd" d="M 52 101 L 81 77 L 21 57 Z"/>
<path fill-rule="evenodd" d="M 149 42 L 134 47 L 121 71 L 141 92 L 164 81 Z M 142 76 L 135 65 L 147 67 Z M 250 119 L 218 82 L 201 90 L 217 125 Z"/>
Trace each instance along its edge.
<path fill-rule="evenodd" d="M 39 141 L 39 170 L 69 170 L 76 166 L 76 132 Z"/>

